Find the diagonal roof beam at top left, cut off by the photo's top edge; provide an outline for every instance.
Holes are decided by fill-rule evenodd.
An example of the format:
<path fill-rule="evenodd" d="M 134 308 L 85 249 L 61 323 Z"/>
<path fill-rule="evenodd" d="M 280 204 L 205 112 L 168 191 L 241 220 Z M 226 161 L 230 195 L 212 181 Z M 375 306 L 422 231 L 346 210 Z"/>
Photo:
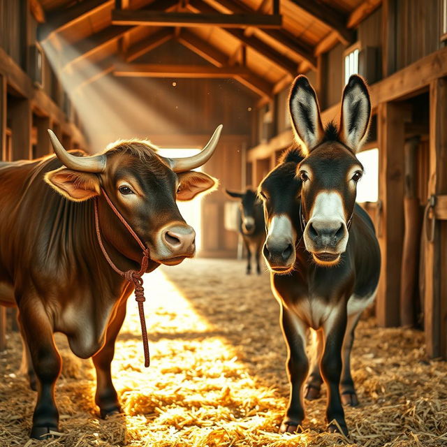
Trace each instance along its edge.
<path fill-rule="evenodd" d="M 88 15 L 96 13 L 98 9 L 113 4 L 113 0 L 85 0 L 75 3 L 66 9 L 54 10 L 46 14 L 46 22 L 38 25 L 37 36 L 39 41 L 45 41 L 50 34 L 71 27 L 71 25 L 85 19 Z"/>

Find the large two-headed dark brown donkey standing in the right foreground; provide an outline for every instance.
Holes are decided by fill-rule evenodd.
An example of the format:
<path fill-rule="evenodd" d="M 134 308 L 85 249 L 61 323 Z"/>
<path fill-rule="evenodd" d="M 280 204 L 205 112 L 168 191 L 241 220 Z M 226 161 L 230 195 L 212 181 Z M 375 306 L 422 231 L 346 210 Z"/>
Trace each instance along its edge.
<path fill-rule="evenodd" d="M 328 430 L 347 436 L 342 404 L 358 404 L 350 367 L 354 330 L 375 298 L 381 263 L 373 223 L 356 204 L 363 173 L 356 151 L 367 138 L 371 103 L 365 82 L 351 76 L 339 129 L 332 123 L 323 129 L 315 91 L 300 75 L 288 105 L 301 149 L 289 149 L 258 189 L 268 229 L 263 255 L 288 346 L 291 396 L 280 432 L 300 430 L 306 379 L 307 399 L 318 397 L 324 380 Z M 307 378 L 309 328 L 316 352 Z"/>

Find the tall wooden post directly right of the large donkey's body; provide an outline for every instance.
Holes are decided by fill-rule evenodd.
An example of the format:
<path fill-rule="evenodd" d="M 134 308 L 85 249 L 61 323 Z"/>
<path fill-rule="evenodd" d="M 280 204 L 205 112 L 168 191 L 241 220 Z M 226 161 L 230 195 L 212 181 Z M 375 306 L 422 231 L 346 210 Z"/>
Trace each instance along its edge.
<path fill-rule="evenodd" d="M 376 300 L 377 322 L 381 326 L 400 324 L 400 270 L 404 235 L 404 121 L 399 103 L 379 104 L 379 224 L 381 277 Z"/>

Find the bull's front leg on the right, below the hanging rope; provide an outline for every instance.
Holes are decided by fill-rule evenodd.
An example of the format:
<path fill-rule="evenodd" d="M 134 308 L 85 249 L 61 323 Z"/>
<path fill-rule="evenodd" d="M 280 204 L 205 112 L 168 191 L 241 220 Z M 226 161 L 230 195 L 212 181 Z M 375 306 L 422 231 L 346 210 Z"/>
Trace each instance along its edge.
<path fill-rule="evenodd" d="M 113 318 L 107 328 L 105 344 L 101 351 L 96 353 L 92 358 L 96 369 L 95 403 L 99 407 L 101 418 L 122 412 L 117 391 L 115 390 L 115 386 L 113 386 L 110 365 L 115 354 L 115 341 L 126 316 L 126 302 L 127 297 L 119 303 L 115 318 Z"/>

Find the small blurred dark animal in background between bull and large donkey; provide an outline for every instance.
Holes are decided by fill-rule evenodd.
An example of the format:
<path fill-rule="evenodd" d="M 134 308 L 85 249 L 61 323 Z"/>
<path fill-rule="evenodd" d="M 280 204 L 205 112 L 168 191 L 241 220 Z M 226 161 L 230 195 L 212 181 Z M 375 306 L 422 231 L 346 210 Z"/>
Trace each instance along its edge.
<path fill-rule="evenodd" d="M 247 274 L 251 273 L 251 250 L 256 259 L 256 272 L 261 274 L 259 258 L 265 241 L 264 212 L 261 200 L 252 189 L 244 193 L 225 190 L 228 196 L 241 201 L 239 232 L 247 249 Z"/>

